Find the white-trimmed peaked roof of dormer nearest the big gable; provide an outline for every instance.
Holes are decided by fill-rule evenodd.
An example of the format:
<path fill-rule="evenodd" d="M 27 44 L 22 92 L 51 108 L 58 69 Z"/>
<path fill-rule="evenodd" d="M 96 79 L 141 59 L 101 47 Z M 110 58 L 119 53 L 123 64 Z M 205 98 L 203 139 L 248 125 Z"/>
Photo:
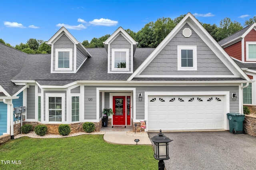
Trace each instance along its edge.
<path fill-rule="evenodd" d="M 135 53 L 138 42 L 136 42 L 122 27 L 119 27 L 105 42 L 103 42 L 104 47 L 106 48 L 107 52 L 108 52 L 108 45 L 113 40 L 115 40 L 115 38 L 119 34 L 122 34 L 122 36 L 124 36 L 124 38 L 126 38 L 126 40 L 133 45 L 133 53 Z"/>

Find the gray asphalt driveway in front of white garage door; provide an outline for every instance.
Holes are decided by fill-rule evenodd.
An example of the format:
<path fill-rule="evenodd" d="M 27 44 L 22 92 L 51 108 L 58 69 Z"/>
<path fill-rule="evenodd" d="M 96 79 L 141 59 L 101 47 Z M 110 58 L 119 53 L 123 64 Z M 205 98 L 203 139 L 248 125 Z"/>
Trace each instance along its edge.
<path fill-rule="evenodd" d="M 163 132 L 166 170 L 256 170 L 256 137 L 223 132 Z M 158 132 L 148 132 L 150 138 Z M 153 156 L 153 155 L 152 155 Z"/>

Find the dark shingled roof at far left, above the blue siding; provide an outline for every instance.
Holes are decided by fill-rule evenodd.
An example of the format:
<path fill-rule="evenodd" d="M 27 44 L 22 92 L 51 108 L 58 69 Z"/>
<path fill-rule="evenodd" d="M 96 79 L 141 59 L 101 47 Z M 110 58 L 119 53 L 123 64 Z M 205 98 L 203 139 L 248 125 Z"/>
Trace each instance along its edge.
<path fill-rule="evenodd" d="M 12 77 L 17 75 L 23 67 L 28 54 L 0 43 L 0 91 L 6 96 L 12 96 L 24 85 L 15 85 Z"/>

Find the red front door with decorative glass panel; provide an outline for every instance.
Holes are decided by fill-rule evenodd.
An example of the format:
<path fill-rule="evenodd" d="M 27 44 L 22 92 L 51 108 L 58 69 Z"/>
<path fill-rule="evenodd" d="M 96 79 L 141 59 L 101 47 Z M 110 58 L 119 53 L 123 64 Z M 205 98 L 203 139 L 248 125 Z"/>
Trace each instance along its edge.
<path fill-rule="evenodd" d="M 113 96 L 113 125 L 126 125 L 126 102 L 125 96 Z"/>

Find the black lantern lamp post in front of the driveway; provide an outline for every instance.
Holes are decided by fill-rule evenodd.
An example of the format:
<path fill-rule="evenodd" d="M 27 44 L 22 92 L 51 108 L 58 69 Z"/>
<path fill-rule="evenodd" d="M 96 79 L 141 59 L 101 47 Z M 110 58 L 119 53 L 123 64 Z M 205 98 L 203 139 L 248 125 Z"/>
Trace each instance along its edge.
<path fill-rule="evenodd" d="M 152 137 L 151 140 L 154 142 L 154 158 L 159 160 L 158 170 L 164 170 L 164 160 L 170 159 L 168 143 L 172 140 L 164 136 L 161 129 L 158 136 Z"/>

